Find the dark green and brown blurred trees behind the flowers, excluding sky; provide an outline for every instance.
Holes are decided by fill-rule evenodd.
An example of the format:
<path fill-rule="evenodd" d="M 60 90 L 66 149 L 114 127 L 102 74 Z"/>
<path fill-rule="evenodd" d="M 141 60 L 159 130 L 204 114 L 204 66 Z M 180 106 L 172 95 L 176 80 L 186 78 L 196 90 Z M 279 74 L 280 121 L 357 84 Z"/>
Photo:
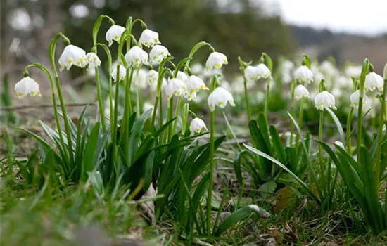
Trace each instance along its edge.
<path fill-rule="evenodd" d="M 33 61 L 49 65 L 47 46 L 56 32 L 63 32 L 73 44 L 89 51 L 92 27 L 101 14 L 109 15 L 118 25 L 125 25 L 130 15 L 142 18 L 151 30 L 159 32 L 163 45 L 177 60 L 187 56 L 198 41 L 208 41 L 227 55 L 229 72 L 238 69 L 238 56 L 259 59 L 265 51 L 275 59 L 296 51 L 288 27 L 279 16 L 266 14 L 258 0 L 8 0 L 1 1 L 0 6 L 4 13 L 0 27 L 2 54 L 14 37 L 19 37 L 23 57 L 14 63 L 22 67 Z M 106 42 L 108 27 L 104 21 L 99 41 Z M 134 35 L 140 34 L 141 27 L 135 27 Z M 31 55 L 30 59 L 25 54 Z M 203 62 L 207 56 L 208 51 L 201 51 L 195 59 Z M 9 60 L 4 55 L 2 59 Z M 8 64 L 11 69 L 13 65 Z"/>

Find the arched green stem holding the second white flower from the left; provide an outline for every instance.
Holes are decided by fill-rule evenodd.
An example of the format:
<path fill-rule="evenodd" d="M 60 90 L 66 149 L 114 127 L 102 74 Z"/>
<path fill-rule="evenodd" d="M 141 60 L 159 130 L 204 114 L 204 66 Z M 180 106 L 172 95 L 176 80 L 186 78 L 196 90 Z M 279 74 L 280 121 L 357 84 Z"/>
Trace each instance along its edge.
<path fill-rule="evenodd" d="M 68 114 L 67 114 L 67 110 L 65 107 L 65 100 L 63 99 L 61 82 L 59 82 L 58 70 L 56 70 L 56 65 L 55 65 L 56 43 L 58 42 L 59 38 L 63 38 L 66 43 L 70 44 L 70 40 L 67 37 L 65 37 L 65 35 L 63 35 L 61 32 L 59 32 L 50 41 L 49 58 L 50 58 L 50 63 L 51 63 L 51 70 L 53 72 L 54 79 L 55 79 L 56 90 L 58 91 L 59 101 L 61 102 L 63 121 L 65 122 L 65 131 L 66 131 L 66 136 L 67 136 L 67 140 L 68 140 L 68 152 L 69 152 L 70 162 L 73 162 L 74 159 L 73 159 L 73 153 L 72 153 L 72 138 L 71 138 L 70 124 L 68 122 Z"/>

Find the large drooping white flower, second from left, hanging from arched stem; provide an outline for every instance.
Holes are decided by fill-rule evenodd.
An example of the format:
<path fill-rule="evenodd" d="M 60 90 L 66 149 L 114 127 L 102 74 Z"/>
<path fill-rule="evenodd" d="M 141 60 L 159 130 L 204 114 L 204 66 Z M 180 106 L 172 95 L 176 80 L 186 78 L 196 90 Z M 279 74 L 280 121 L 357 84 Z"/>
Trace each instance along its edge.
<path fill-rule="evenodd" d="M 72 44 L 65 46 L 65 49 L 58 60 L 59 70 L 62 71 L 64 68 L 69 70 L 72 65 L 77 67 L 86 66 L 87 60 L 85 56 L 86 52 L 82 48 Z"/>

